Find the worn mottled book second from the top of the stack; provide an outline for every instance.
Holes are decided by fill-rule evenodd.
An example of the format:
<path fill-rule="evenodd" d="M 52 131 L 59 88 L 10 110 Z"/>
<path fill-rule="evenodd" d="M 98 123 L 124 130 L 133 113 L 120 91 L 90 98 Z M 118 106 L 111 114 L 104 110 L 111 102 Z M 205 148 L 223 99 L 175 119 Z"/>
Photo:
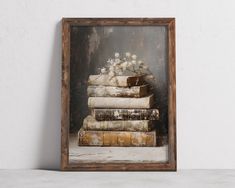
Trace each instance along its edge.
<path fill-rule="evenodd" d="M 132 87 L 88 86 L 89 97 L 144 97 L 148 94 L 148 85 Z"/>

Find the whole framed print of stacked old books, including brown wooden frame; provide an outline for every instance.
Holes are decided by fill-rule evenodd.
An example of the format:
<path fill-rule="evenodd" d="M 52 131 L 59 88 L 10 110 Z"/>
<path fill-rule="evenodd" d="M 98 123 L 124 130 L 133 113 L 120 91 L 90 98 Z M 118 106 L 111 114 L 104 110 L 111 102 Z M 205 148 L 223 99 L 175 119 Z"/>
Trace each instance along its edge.
<path fill-rule="evenodd" d="M 62 170 L 176 170 L 174 18 L 62 20 Z"/>

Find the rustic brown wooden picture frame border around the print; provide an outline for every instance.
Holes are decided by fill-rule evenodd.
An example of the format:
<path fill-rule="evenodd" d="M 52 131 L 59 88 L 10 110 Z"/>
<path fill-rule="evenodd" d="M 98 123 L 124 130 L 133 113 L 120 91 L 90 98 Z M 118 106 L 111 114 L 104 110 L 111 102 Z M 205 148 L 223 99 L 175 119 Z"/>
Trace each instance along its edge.
<path fill-rule="evenodd" d="M 168 28 L 168 158 L 167 163 L 69 164 L 70 27 L 166 26 Z M 66 171 L 176 171 L 176 72 L 175 18 L 63 18 L 61 91 L 61 170 Z"/>

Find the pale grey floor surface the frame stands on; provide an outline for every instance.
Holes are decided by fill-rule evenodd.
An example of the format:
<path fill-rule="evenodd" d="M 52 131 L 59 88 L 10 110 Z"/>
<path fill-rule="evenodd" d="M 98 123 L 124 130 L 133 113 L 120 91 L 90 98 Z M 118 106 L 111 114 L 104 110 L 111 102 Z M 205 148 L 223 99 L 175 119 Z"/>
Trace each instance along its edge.
<path fill-rule="evenodd" d="M 235 170 L 59 172 L 0 170 L 1 188 L 234 188 Z"/>

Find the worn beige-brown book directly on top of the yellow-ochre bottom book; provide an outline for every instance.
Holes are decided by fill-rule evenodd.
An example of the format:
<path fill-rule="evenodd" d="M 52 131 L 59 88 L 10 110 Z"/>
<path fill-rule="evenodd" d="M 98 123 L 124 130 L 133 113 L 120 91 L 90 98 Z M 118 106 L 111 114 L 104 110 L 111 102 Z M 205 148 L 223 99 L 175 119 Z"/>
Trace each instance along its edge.
<path fill-rule="evenodd" d="M 83 120 L 83 129 L 94 131 L 151 131 L 153 122 L 149 120 L 97 121 L 89 115 Z"/>

